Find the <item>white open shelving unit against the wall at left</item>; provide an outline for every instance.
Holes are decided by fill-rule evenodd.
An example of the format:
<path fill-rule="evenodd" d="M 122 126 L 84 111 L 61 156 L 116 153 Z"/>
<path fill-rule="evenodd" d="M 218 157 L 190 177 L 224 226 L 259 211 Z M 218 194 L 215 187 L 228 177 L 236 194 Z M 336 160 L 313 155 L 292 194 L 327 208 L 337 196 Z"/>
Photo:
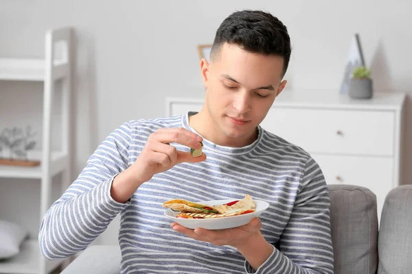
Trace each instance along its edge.
<path fill-rule="evenodd" d="M 71 28 L 50 29 L 45 34 L 45 58 L 0 58 L 0 80 L 43 82 L 43 140 L 42 149 L 33 158 L 41 160 L 40 166 L 20 167 L 0 165 L 0 178 L 39 179 L 41 182 L 40 220 L 52 205 L 52 179 L 62 175 L 62 192 L 70 184 L 70 95 L 71 95 Z M 51 150 L 52 108 L 56 81 L 60 80 L 62 92 L 61 151 Z M 1 195 L 0 195 L 1 199 Z M 0 273 L 46 274 L 65 260 L 47 261 L 40 253 L 38 240 L 29 239 L 21 245 L 18 256 L 0 262 Z"/>

